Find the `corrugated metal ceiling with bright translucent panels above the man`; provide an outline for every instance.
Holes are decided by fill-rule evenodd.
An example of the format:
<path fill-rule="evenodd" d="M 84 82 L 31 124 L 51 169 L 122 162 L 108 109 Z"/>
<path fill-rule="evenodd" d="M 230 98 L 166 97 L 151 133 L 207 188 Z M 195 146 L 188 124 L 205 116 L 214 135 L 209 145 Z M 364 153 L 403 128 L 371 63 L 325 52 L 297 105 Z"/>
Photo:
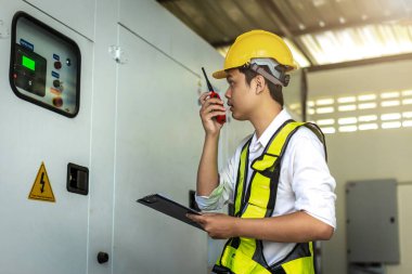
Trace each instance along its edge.
<path fill-rule="evenodd" d="M 157 0 L 223 55 L 250 29 L 275 32 L 300 67 L 412 58 L 412 0 Z"/>

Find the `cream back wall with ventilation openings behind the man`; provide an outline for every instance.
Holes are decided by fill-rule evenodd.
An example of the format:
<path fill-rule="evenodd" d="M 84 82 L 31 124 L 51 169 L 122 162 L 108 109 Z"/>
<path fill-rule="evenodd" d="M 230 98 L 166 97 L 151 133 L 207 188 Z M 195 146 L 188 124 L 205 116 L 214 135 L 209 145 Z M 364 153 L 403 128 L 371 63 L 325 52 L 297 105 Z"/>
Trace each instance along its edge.
<path fill-rule="evenodd" d="M 357 95 L 369 92 L 397 91 L 412 88 L 411 61 L 401 61 L 355 68 L 310 73 L 309 100 Z M 400 112 L 412 106 L 392 107 Z M 378 108 L 379 113 L 386 109 Z M 369 113 L 373 110 L 368 110 Z M 362 115 L 361 110 L 355 115 Z M 322 243 L 324 274 L 346 274 L 346 213 L 345 184 L 348 181 L 395 178 L 398 182 L 412 181 L 412 128 L 377 129 L 356 132 L 337 132 L 326 135 L 329 166 L 337 186 L 337 231 L 330 242 Z M 412 201 L 411 184 L 398 186 L 400 225 L 399 265 L 387 265 L 387 273 L 409 274 L 412 271 Z M 376 212 L 378 213 L 378 212 Z M 376 239 L 378 240 L 378 239 Z"/>

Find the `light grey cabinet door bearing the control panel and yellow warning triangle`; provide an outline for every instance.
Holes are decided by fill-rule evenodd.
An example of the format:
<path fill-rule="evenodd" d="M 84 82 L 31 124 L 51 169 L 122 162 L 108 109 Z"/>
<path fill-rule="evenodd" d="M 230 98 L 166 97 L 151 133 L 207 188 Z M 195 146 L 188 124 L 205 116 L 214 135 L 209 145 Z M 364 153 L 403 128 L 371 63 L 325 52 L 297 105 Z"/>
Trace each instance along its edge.
<path fill-rule="evenodd" d="M 22 1 L 2 5 L 7 26 L 24 11 L 75 40 L 81 71 L 91 74 L 90 41 Z M 67 192 L 66 174 L 68 162 L 88 167 L 90 161 L 92 84 L 81 77 L 75 118 L 21 100 L 7 80 L 10 43 L 0 39 L 0 273 L 86 273 L 89 197 Z M 41 162 L 55 203 L 28 199 Z"/>

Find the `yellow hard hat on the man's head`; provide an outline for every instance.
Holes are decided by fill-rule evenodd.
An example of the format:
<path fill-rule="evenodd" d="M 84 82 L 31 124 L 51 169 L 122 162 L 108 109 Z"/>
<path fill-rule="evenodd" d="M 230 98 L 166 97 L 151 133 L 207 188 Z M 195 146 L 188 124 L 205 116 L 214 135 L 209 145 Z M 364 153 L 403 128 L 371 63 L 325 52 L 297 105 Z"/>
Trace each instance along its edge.
<path fill-rule="evenodd" d="M 249 64 L 252 58 L 273 58 L 285 66 L 286 71 L 296 68 L 292 52 L 282 38 L 265 30 L 250 30 L 236 38 L 226 55 L 223 69 L 213 76 L 226 78 L 224 70 Z"/>

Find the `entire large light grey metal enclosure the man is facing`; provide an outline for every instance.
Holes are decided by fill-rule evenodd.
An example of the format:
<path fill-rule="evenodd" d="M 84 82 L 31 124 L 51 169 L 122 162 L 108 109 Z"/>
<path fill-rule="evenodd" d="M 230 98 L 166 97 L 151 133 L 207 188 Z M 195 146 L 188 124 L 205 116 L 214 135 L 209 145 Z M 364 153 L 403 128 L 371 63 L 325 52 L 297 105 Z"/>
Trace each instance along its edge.
<path fill-rule="evenodd" d="M 206 273 L 207 235 L 136 200 L 160 192 L 188 205 L 204 134 L 201 67 L 222 57 L 152 0 L 0 5 L 0 273 Z M 18 11 L 79 47 L 74 118 L 11 90 Z M 55 203 L 28 199 L 41 162 Z M 68 164 L 88 171 L 87 190 L 67 190 Z"/>

